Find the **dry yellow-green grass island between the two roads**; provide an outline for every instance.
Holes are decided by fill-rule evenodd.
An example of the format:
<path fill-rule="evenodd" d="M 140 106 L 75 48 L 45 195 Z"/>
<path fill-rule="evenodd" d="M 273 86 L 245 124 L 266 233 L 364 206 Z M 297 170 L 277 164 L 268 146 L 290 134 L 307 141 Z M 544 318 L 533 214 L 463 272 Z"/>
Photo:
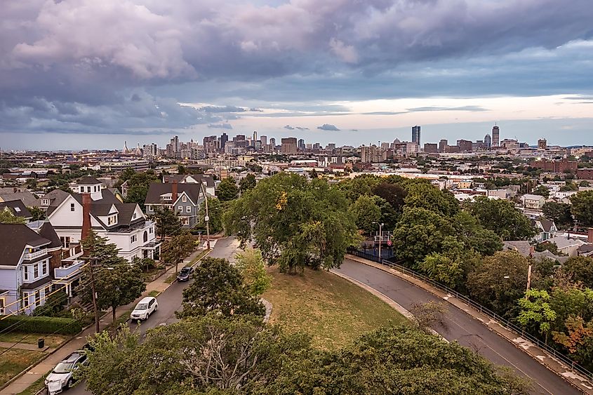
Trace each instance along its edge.
<path fill-rule="evenodd" d="M 316 347 L 336 349 L 374 328 L 407 322 L 378 297 L 329 272 L 289 276 L 272 268 L 269 274 L 272 288 L 263 297 L 273 304 L 270 322 L 310 333 Z"/>

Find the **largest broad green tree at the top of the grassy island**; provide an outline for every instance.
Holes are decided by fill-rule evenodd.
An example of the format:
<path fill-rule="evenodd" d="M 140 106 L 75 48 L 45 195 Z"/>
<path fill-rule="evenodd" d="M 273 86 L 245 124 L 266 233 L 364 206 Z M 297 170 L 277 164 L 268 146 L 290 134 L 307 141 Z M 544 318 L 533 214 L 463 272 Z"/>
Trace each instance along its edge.
<path fill-rule="evenodd" d="M 269 265 L 295 273 L 339 267 L 357 228 L 345 194 L 325 180 L 279 173 L 258 182 L 224 215 L 228 234 L 254 241 Z"/>

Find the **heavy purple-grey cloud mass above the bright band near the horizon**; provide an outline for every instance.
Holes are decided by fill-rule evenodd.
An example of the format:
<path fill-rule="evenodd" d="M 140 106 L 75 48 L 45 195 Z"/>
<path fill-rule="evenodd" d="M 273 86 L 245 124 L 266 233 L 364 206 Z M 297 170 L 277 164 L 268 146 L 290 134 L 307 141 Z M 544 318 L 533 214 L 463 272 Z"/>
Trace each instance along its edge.
<path fill-rule="evenodd" d="M 0 13 L 0 130 L 161 130 L 259 112 L 182 101 L 593 90 L 591 46 L 566 46 L 592 38 L 590 0 L 3 0 Z"/>

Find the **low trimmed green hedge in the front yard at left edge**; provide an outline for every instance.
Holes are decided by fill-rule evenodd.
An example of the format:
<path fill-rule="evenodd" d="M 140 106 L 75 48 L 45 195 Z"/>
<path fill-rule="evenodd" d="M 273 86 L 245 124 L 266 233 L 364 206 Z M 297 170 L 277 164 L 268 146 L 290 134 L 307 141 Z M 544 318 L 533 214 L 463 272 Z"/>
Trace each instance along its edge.
<path fill-rule="evenodd" d="M 14 325 L 14 326 L 13 326 Z M 76 335 L 82 330 L 82 323 L 76 319 L 44 316 L 1 316 L 0 330 L 16 330 L 24 333 L 58 333 Z"/>

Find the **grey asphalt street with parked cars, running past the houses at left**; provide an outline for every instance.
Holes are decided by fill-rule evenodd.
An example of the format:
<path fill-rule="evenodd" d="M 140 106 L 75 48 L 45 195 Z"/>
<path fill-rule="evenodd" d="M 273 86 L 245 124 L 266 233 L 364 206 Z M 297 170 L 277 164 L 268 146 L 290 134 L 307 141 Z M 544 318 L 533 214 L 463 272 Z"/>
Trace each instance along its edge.
<path fill-rule="evenodd" d="M 229 257 L 234 257 L 237 246 L 238 243 L 236 243 L 234 238 L 220 239 L 216 241 L 213 250 L 208 256 L 224 257 L 229 259 Z M 147 321 L 140 325 L 140 333 L 142 333 L 142 335 L 144 335 L 148 329 L 159 326 L 161 323 L 173 323 L 178 321 L 175 318 L 175 311 L 181 307 L 182 293 L 183 290 L 187 288 L 187 286 L 189 286 L 189 281 L 187 283 L 178 283 L 175 281 L 164 291 L 164 293 L 161 293 L 161 295 L 156 297 L 156 300 L 159 301 L 159 309 L 157 309 L 156 313 L 152 314 L 152 316 L 150 316 Z M 134 330 L 136 328 L 136 324 L 130 323 L 130 328 Z M 81 382 L 80 384 L 76 385 L 76 387 L 64 391 L 63 394 L 91 395 L 91 392 L 86 391 L 85 387 L 85 383 Z"/>

